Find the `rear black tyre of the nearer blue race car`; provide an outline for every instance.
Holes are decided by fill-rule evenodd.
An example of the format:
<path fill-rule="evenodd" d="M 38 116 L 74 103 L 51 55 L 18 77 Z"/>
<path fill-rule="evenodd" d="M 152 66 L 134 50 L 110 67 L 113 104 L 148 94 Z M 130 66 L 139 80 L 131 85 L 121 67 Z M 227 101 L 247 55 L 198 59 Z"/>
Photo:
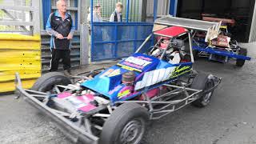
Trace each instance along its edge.
<path fill-rule="evenodd" d="M 196 90 L 203 90 L 203 93 L 199 95 L 197 100 L 192 102 L 193 106 L 205 107 L 210 103 L 210 99 L 214 94 L 214 90 L 210 90 L 207 93 L 205 92 L 214 86 L 214 80 L 210 79 L 209 77 L 210 74 L 198 73 L 198 75 L 194 78 L 191 88 Z"/>

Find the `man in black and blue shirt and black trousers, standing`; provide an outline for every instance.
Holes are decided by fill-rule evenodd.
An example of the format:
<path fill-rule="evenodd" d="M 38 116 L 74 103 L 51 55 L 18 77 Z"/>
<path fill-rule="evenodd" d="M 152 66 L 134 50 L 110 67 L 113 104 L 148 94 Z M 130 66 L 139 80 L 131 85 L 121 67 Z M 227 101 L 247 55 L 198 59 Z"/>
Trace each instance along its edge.
<path fill-rule="evenodd" d="M 50 71 L 58 70 L 59 60 L 62 59 L 64 74 L 70 74 L 70 40 L 74 35 L 74 22 L 70 14 L 66 13 L 66 1 L 58 0 L 57 9 L 50 14 L 46 32 L 50 34 L 51 61 Z"/>

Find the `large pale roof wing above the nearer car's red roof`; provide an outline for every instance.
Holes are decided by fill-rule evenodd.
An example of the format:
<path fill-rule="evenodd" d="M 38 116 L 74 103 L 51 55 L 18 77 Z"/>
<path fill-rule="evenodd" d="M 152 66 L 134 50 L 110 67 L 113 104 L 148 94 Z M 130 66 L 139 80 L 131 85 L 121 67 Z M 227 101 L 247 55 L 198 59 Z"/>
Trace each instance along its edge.
<path fill-rule="evenodd" d="M 207 22 L 190 18 L 177 18 L 170 15 L 158 18 L 154 21 L 154 27 L 162 26 L 181 26 L 188 30 L 205 31 L 206 42 L 218 37 L 218 32 L 222 22 Z M 153 29 L 155 30 L 155 28 Z"/>

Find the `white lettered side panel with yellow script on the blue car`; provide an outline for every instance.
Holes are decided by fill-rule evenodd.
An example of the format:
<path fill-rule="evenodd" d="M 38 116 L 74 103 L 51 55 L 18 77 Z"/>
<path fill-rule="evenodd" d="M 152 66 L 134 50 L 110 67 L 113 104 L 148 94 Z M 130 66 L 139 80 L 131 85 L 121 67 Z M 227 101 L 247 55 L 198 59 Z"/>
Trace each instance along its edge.
<path fill-rule="evenodd" d="M 136 83 L 135 90 L 140 90 L 147 86 L 153 86 L 158 82 L 164 82 L 168 79 L 176 78 L 182 74 L 186 74 L 190 70 L 190 66 L 172 66 L 166 69 L 164 68 L 146 72 L 142 78 L 142 81 Z"/>

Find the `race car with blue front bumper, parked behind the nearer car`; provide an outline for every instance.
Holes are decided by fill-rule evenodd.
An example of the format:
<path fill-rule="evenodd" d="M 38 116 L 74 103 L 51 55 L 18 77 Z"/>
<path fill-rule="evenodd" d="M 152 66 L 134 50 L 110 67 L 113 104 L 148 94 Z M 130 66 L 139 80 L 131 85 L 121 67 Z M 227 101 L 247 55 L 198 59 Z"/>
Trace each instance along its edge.
<path fill-rule="evenodd" d="M 228 26 L 234 26 L 234 19 L 229 18 L 214 18 L 211 16 L 203 15 L 202 19 L 209 22 L 221 22 L 218 37 L 206 40 L 206 33 L 204 31 L 195 31 L 194 42 L 194 57 L 206 57 L 212 61 L 229 62 L 236 60 L 236 66 L 244 66 L 246 60 L 250 61 L 247 57 L 247 50 L 238 46 L 238 42 L 234 40 L 228 30 Z"/>

